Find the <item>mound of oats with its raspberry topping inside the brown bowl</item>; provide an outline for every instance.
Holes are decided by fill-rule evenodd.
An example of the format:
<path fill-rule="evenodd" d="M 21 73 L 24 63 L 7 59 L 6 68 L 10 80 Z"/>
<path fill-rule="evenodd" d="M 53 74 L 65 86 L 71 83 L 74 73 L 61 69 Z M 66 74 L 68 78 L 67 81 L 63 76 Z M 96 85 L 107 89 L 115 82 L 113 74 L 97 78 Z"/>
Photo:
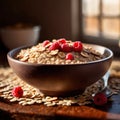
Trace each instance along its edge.
<path fill-rule="evenodd" d="M 104 58 L 92 47 L 80 41 L 66 39 L 45 40 L 35 46 L 22 49 L 16 59 L 37 64 L 82 64 Z"/>

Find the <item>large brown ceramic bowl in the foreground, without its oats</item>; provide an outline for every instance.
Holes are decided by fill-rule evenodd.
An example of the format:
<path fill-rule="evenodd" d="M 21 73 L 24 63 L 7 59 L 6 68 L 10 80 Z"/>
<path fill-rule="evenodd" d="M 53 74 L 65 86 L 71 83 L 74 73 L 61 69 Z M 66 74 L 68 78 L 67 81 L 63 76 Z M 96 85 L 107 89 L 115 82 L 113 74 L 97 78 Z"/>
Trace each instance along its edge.
<path fill-rule="evenodd" d="M 103 46 L 89 44 L 106 57 L 85 64 L 30 64 L 15 59 L 23 48 L 7 54 L 13 71 L 26 83 L 38 88 L 45 95 L 69 96 L 84 92 L 85 88 L 98 81 L 109 69 L 113 52 Z"/>

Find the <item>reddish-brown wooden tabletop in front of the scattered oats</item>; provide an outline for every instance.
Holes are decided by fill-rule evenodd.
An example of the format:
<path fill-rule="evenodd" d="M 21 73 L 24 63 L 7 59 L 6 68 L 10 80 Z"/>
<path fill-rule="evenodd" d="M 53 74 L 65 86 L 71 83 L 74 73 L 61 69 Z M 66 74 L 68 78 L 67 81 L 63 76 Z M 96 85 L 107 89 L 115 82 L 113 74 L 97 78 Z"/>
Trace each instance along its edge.
<path fill-rule="evenodd" d="M 0 61 L 6 61 L 2 58 Z M 1 64 L 3 64 L 1 62 Z M 18 103 L 9 103 L 0 98 L 0 119 L 10 120 L 45 120 L 45 119 L 102 119 L 120 120 L 120 94 L 113 95 L 112 101 L 104 106 L 54 106 L 45 105 L 22 106 Z"/>

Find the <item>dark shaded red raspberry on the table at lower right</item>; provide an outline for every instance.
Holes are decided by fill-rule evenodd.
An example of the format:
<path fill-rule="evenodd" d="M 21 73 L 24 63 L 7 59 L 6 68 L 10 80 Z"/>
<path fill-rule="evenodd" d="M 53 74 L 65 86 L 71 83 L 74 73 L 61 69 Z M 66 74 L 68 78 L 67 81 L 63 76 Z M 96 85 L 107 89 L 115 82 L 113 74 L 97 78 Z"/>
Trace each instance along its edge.
<path fill-rule="evenodd" d="M 98 93 L 93 97 L 95 105 L 104 105 L 107 103 L 107 97 L 103 93 Z"/>

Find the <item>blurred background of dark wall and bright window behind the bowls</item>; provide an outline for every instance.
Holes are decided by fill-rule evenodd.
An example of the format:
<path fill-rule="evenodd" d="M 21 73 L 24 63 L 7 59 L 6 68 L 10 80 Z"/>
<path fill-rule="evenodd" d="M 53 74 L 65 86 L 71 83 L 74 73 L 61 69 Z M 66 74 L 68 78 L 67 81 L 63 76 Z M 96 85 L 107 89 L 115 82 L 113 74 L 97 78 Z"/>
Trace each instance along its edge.
<path fill-rule="evenodd" d="M 80 40 L 120 54 L 120 0 L 0 0 L 0 28 L 17 23 L 39 25 L 39 42 Z"/>

